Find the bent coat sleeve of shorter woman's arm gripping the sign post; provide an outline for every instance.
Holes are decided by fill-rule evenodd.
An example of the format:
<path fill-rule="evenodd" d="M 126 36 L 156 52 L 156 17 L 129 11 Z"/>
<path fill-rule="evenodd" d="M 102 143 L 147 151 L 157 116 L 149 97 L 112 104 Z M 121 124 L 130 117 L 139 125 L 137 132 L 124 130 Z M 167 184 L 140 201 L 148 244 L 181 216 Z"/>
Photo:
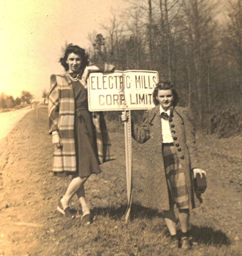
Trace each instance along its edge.
<path fill-rule="evenodd" d="M 139 143 L 145 143 L 150 138 L 150 115 L 146 111 L 143 116 L 141 125 L 134 125 L 132 122 L 132 137 Z"/>

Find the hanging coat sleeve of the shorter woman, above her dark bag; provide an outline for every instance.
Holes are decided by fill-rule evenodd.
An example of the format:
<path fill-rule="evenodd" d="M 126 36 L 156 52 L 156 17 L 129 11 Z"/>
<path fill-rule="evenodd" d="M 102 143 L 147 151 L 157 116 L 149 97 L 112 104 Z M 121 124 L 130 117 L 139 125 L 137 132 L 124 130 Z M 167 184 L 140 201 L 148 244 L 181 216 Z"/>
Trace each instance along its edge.
<path fill-rule="evenodd" d="M 189 108 L 185 109 L 184 128 L 186 135 L 186 144 L 189 149 L 191 169 L 199 168 L 199 157 L 196 146 L 195 125 L 193 115 Z"/>

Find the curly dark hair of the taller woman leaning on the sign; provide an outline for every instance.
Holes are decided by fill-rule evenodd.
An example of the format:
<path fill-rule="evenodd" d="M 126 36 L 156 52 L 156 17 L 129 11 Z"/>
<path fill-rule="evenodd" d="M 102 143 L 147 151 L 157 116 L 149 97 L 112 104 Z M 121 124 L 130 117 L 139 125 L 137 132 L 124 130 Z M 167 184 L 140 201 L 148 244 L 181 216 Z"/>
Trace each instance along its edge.
<path fill-rule="evenodd" d="M 69 65 L 67 64 L 67 58 L 71 53 L 75 53 L 76 55 L 79 55 L 81 57 L 82 59 L 81 75 L 82 75 L 84 69 L 89 64 L 89 55 L 81 47 L 74 46 L 73 44 L 69 44 L 65 51 L 64 57 L 59 59 L 59 62 L 61 62 L 61 64 L 63 65 L 66 71 L 69 70 Z"/>

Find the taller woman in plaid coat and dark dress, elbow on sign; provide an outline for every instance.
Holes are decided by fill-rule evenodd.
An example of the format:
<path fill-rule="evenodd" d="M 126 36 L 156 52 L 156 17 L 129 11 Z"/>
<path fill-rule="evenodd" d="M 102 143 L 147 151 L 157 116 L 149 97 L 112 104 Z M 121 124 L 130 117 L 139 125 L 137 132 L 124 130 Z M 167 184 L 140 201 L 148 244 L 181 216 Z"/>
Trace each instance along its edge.
<path fill-rule="evenodd" d="M 53 173 L 72 175 L 66 194 L 57 210 L 74 218 L 69 201 L 77 194 L 82 206 L 82 221 L 90 224 L 90 210 L 85 200 L 84 183 L 91 174 L 101 173 L 99 164 L 112 160 L 110 140 L 102 112 L 88 111 L 87 78 L 90 72 L 111 72 L 112 65 L 87 66 L 88 55 L 70 44 L 60 59 L 67 73 L 51 75 L 49 92 L 49 134 L 55 145 Z"/>

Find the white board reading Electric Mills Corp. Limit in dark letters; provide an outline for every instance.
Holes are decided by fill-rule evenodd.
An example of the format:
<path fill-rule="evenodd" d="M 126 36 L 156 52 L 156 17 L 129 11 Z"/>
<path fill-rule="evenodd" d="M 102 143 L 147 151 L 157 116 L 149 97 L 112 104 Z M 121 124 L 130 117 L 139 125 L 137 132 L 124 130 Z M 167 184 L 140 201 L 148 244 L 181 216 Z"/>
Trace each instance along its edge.
<path fill-rule="evenodd" d="M 88 78 L 89 111 L 149 109 L 157 71 L 127 70 L 91 73 Z"/>

